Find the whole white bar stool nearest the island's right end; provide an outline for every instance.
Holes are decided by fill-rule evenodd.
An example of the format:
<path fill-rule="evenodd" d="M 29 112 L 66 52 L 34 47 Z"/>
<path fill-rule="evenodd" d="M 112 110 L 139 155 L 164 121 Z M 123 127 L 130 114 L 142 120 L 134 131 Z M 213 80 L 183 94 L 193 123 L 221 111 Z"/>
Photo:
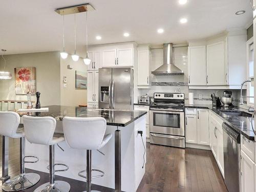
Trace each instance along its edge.
<path fill-rule="evenodd" d="M 112 134 L 105 135 L 106 120 L 102 117 L 64 117 L 62 123 L 68 145 L 78 150 L 87 150 L 87 169 L 82 170 L 78 175 L 86 178 L 86 191 L 91 192 L 92 179 L 104 175 L 101 170 L 92 169 L 92 150 L 98 151 L 105 146 L 111 139 Z M 103 154 L 102 152 L 100 153 Z M 100 172 L 101 174 L 92 177 L 92 171 Z M 81 175 L 84 172 L 86 172 L 86 176 Z"/>

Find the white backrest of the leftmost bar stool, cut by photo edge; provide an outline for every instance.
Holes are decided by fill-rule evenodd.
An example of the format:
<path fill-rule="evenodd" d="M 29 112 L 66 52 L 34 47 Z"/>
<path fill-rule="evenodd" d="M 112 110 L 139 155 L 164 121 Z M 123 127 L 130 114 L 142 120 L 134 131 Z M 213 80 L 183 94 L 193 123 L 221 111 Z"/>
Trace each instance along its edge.
<path fill-rule="evenodd" d="M 0 111 L 0 135 L 19 138 L 20 134 L 16 133 L 19 123 L 20 117 L 17 113 Z"/>

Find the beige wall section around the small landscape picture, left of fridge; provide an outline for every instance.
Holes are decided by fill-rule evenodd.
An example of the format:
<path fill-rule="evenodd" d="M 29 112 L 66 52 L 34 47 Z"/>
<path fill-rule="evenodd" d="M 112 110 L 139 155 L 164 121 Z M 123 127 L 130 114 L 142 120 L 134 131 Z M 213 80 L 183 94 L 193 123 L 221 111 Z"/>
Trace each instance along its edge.
<path fill-rule="evenodd" d="M 68 69 L 68 65 L 73 69 Z M 87 103 L 87 90 L 76 89 L 75 71 L 87 72 L 87 66 L 84 65 L 82 58 L 73 61 L 71 55 L 67 59 L 60 58 L 60 101 L 61 105 L 78 106 Z M 63 88 L 63 76 L 67 77 L 67 88 Z"/>

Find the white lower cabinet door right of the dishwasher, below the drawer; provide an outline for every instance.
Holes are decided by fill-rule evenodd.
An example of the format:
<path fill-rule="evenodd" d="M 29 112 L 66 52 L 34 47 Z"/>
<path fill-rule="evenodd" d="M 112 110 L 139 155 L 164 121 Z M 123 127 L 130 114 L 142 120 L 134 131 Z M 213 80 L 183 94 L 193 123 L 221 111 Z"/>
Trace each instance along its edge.
<path fill-rule="evenodd" d="M 254 191 L 254 162 L 241 150 L 242 192 Z"/>

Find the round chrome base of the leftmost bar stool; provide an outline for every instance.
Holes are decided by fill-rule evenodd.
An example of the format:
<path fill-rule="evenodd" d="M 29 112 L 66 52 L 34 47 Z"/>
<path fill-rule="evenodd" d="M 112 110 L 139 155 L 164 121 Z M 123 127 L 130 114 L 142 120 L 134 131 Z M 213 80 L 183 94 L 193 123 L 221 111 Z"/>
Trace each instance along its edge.
<path fill-rule="evenodd" d="M 40 176 L 34 173 L 19 174 L 11 179 L 8 179 L 3 184 L 5 191 L 20 191 L 32 187 L 40 180 Z"/>

